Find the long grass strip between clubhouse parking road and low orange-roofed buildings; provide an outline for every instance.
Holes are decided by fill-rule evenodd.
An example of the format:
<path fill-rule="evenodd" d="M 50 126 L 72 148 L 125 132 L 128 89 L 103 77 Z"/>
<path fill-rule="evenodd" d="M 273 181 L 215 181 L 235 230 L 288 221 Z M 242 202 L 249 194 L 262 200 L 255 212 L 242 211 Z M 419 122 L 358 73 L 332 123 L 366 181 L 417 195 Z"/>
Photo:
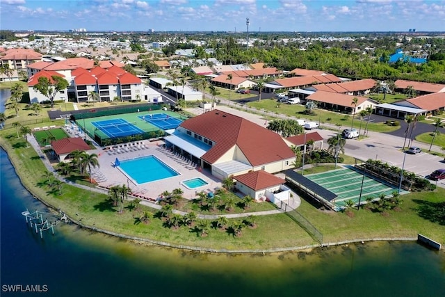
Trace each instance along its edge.
<path fill-rule="evenodd" d="M 314 122 L 320 122 L 322 127 L 326 127 L 327 129 L 338 129 L 337 124 L 341 125 L 342 127 L 350 127 L 353 122 L 353 116 L 347 115 L 343 113 L 334 113 L 332 111 L 326 111 L 324 109 L 315 109 L 316 115 L 307 115 L 305 114 L 305 106 L 302 106 L 300 104 L 278 104 L 275 99 L 264 99 L 261 100 L 261 102 L 254 101 L 254 102 L 248 102 L 248 106 L 257 109 L 257 113 L 262 114 L 263 110 L 270 111 L 272 113 L 283 114 L 283 115 L 289 115 L 291 117 L 298 118 L 304 118 L 307 120 L 312 120 Z M 371 120 L 373 118 L 373 115 L 371 115 Z M 360 129 L 360 122 L 362 122 L 362 133 L 364 130 L 364 127 L 366 126 L 366 120 L 360 121 L 359 115 L 356 115 L 354 118 L 354 128 L 359 130 Z M 400 129 L 398 126 L 389 126 L 385 123 L 374 123 L 369 122 L 368 125 L 369 131 L 376 131 L 376 132 L 390 132 L 390 131 L 396 131 L 397 129 Z"/>

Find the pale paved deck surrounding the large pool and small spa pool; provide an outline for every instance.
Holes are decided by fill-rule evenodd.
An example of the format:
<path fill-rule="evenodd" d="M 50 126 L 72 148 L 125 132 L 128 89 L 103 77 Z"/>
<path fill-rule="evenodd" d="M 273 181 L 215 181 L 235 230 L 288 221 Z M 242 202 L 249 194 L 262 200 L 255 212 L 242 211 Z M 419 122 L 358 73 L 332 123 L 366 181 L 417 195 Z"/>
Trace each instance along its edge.
<path fill-rule="evenodd" d="M 127 184 L 133 193 L 141 195 L 145 198 L 156 199 L 163 193 L 163 191 L 172 191 L 174 188 L 181 188 L 184 191 L 183 197 L 186 199 L 193 199 L 200 191 L 215 191 L 216 188 L 221 186 L 221 181 L 211 176 L 211 173 L 206 170 L 200 172 L 197 167 L 189 161 L 182 159 L 181 156 L 176 155 L 170 150 L 163 148 L 163 141 L 143 141 L 144 148 L 138 147 L 138 150 L 129 152 L 108 152 L 107 150 L 99 149 L 96 154 L 99 156 L 99 172 L 102 177 L 101 180 L 97 180 L 99 186 L 109 188 L 115 185 Z M 100 154 L 100 155 L 99 155 Z M 163 163 L 167 164 L 173 170 L 179 172 L 179 175 L 175 177 L 168 177 L 166 179 L 159 179 L 154 182 L 147 182 L 145 184 L 136 184 L 131 179 L 127 178 L 124 173 L 115 168 L 115 159 L 124 161 L 128 159 L 134 159 L 143 156 L 156 156 Z M 187 179 L 193 179 L 200 177 L 204 179 L 208 184 L 199 188 L 188 189 L 181 182 Z"/>

